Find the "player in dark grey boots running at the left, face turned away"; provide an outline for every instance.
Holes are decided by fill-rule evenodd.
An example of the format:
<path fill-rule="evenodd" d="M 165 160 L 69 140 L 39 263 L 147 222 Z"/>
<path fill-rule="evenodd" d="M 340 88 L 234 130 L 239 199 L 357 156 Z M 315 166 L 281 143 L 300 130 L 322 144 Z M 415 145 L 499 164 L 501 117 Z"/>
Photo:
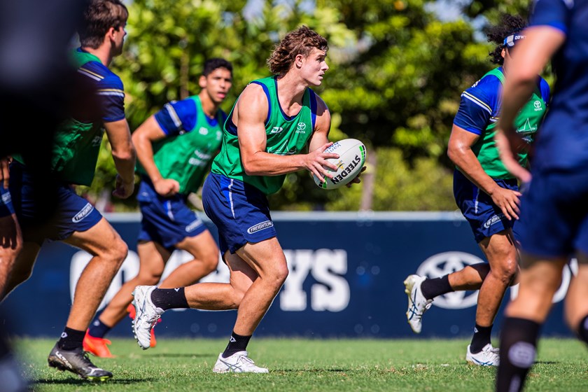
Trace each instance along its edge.
<path fill-rule="evenodd" d="M 109 70 L 113 57 L 123 51 L 127 8 L 120 0 L 92 0 L 78 29 L 81 46 L 73 51 L 78 78 L 91 83 L 94 106 L 77 108 L 73 117 L 55 132 L 51 149 L 50 174 L 57 183 L 57 205 L 51 220 L 38 226 L 41 206 L 35 203 L 38 183 L 27 160 L 15 157 L 10 166 L 10 195 L 22 225 L 23 247 L 8 275 L 6 295 L 30 276 L 45 239 L 64 241 L 92 255 L 73 295 L 66 327 L 51 350 L 49 365 L 79 377 L 104 381 L 111 372 L 95 366 L 83 351 L 85 330 L 127 255 L 127 244 L 94 206 L 76 195 L 71 184 L 89 186 L 94 178 L 104 129 L 112 147 L 118 171 L 113 195 L 129 197 L 134 190 L 135 153 L 124 111 L 120 78 Z M 1 286 L 1 285 L 0 285 Z"/>

